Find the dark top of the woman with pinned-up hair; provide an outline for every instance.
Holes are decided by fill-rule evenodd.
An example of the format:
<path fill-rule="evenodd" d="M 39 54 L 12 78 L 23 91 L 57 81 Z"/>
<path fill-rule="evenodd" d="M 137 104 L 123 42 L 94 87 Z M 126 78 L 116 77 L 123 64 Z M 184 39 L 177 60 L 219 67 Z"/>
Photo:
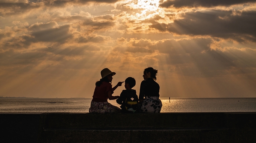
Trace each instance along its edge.
<path fill-rule="evenodd" d="M 141 81 L 141 87 L 139 88 L 139 99 L 143 99 L 144 96 L 156 96 L 159 97 L 160 86 L 153 78 Z"/>

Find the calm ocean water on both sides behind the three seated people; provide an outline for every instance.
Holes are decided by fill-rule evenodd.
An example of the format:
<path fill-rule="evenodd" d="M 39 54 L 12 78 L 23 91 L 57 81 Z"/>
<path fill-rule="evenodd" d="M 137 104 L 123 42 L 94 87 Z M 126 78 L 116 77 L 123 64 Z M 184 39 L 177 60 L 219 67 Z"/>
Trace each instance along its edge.
<path fill-rule="evenodd" d="M 161 112 L 256 112 L 256 98 L 160 98 Z M 109 100 L 118 105 L 115 100 Z M 89 112 L 90 98 L 0 97 L 0 112 Z"/>

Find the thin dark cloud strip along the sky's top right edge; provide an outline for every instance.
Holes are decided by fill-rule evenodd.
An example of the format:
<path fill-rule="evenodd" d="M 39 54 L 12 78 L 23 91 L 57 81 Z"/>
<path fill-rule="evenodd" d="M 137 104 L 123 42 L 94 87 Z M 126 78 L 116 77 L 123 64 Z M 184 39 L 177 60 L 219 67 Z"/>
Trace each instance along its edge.
<path fill-rule="evenodd" d="M 214 6 L 230 6 L 233 4 L 251 3 L 255 0 L 167 0 L 159 6 L 161 7 L 214 7 Z"/>

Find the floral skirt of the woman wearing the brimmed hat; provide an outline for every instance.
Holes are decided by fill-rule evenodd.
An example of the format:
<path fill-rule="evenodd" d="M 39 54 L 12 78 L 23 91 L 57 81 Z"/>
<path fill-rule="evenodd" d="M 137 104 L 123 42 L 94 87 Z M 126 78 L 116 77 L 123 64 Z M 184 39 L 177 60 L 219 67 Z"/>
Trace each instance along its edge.
<path fill-rule="evenodd" d="M 121 109 L 108 102 L 95 102 L 91 101 L 89 113 L 118 113 Z"/>

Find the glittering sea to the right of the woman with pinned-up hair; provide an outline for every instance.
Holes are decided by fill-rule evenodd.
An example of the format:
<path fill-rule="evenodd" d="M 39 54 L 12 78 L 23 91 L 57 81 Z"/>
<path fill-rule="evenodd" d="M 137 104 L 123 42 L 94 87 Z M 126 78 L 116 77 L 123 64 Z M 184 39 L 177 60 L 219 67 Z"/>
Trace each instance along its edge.
<path fill-rule="evenodd" d="M 162 99 L 168 112 L 255 112 L 256 98 L 182 98 Z"/>

